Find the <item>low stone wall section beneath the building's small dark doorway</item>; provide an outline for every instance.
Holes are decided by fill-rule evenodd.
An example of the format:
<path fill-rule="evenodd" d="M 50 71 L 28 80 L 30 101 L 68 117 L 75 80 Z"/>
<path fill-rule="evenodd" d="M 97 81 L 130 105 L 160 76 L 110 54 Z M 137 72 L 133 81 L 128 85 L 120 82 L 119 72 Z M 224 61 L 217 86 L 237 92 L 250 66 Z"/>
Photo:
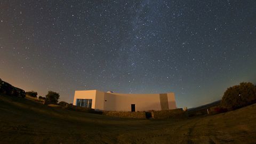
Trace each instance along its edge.
<path fill-rule="evenodd" d="M 146 119 L 146 112 L 103 111 L 102 115 Z"/>

